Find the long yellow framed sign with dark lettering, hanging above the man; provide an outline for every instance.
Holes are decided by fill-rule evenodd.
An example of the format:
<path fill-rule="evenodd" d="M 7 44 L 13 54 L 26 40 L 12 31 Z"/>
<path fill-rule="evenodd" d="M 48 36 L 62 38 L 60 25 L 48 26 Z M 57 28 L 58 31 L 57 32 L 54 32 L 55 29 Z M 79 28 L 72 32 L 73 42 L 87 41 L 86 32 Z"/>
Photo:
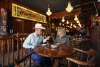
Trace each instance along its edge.
<path fill-rule="evenodd" d="M 45 15 L 29 10 L 14 3 L 12 4 L 12 16 L 26 20 L 46 23 Z"/>

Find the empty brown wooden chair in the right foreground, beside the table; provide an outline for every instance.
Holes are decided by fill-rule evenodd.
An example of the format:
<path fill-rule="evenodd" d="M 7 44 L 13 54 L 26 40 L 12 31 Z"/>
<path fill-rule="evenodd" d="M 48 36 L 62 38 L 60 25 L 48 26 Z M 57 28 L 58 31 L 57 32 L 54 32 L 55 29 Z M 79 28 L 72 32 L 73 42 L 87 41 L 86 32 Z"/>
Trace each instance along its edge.
<path fill-rule="evenodd" d="M 94 57 L 96 55 L 95 51 L 83 51 L 83 50 L 80 50 L 78 48 L 73 48 L 73 50 L 77 51 L 77 52 L 80 52 L 80 53 L 87 54 L 88 55 L 87 56 L 87 60 L 83 61 L 83 60 L 80 60 L 80 59 L 67 57 L 66 60 L 68 60 L 68 67 L 71 67 L 70 66 L 70 62 L 73 62 L 73 63 L 77 64 L 78 67 L 81 67 L 81 66 L 84 66 L 84 67 L 95 67 L 95 63 L 93 63 L 92 61 L 88 60 L 89 56 L 93 56 Z"/>

